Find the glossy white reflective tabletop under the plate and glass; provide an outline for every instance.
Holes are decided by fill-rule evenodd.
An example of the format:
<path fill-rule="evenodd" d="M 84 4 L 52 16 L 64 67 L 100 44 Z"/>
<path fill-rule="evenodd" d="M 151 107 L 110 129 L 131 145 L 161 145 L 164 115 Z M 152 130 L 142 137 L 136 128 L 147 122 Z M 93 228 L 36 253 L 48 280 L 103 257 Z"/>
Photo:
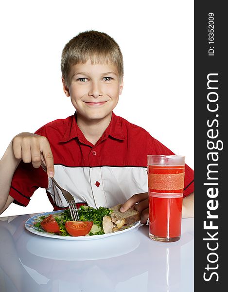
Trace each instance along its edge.
<path fill-rule="evenodd" d="M 163 243 L 141 224 L 97 240 L 41 237 L 24 227 L 34 215 L 0 218 L 0 292 L 193 292 L 193 218 Z"/>

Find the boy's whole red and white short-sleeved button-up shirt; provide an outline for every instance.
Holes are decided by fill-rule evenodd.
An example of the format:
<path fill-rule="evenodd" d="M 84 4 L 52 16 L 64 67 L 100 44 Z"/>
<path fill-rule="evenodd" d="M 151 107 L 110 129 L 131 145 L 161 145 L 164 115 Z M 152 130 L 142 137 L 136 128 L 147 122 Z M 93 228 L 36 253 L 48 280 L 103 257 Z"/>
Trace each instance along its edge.
<path fill-rule="evenodd" d="M 111 207 L 137 193 L 148 192 L 147 155 L 174 154 L 146 130 L 112 114 L 96 145 L 87 141 L 76 123 L 76 113 L 55 120 L 36 134 L 49 140 L 54 157 L 54 178 L 78 203 Z M 184 197 L 193 192 L 193 170 L 186 165 Z M 61 191 L 42 168 L 21 162 L 15 171 L 10 196 L 27 206 L 34 191 L 46 188 L 54 210 L 67 207 Z"/>

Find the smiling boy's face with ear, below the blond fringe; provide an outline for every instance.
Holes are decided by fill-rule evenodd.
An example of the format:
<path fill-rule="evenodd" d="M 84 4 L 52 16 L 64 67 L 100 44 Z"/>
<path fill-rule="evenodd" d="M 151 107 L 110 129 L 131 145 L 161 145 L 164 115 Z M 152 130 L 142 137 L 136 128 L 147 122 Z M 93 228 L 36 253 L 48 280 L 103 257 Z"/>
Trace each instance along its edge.
<path fill-rule="evenodd" d="M 63 80 L 63 89 L 77 110 L 77 118 L 92 121 L 111 116 L 123 89 L 116 66 L 92 65 L 90 61 L 76 64 L 71 66 L 69 80 L 69 88 Z"/>

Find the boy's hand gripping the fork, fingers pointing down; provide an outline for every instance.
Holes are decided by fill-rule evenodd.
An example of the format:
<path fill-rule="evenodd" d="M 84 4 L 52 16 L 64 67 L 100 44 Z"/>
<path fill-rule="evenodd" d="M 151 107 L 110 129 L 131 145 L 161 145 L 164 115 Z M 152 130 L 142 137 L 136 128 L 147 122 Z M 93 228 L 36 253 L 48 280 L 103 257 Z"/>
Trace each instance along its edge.
<path fill-rule="evenodd" d="M 17 159 L 32 162 L 38 168 L 41 161 L 46 164 L 49 177 L 54 176 L 53 154 L 48 139 L 32 133 L 20 133 L 13 138 L 13 151 Z"/>

